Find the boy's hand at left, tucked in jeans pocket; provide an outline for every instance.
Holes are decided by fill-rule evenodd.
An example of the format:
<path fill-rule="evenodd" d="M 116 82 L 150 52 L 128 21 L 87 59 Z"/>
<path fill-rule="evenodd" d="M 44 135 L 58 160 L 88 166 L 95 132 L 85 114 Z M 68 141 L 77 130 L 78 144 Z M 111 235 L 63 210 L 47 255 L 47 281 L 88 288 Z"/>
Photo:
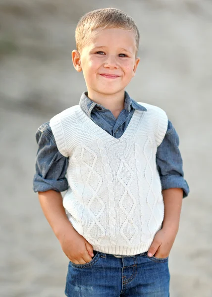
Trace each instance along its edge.
<path fill-rule="evenodd" d="M 59 242 L 63 252 L 74 264 L 89 263 L 94 256 L 92 245 L 73 228 L 66 230 Z"/>

